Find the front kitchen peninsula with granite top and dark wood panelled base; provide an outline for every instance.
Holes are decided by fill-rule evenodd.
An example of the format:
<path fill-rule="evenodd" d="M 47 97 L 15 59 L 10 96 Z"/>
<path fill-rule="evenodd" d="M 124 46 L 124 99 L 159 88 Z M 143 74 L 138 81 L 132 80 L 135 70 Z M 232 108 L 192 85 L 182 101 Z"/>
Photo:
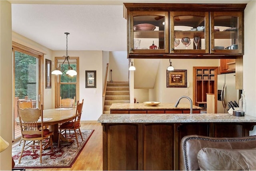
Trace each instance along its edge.
<path fill-rule="evenodd" d="M 178 170 L 185 135 L 242 137 L 256 117 L 224 113 L 102 114 L 103 170 Z"/>

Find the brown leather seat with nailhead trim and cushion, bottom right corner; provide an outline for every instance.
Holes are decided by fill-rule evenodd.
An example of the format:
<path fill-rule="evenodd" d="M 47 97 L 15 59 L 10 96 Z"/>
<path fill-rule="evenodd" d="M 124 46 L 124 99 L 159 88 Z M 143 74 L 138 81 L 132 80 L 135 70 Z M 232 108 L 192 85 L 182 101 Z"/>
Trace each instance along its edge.
<path fill-rule="evenodd" d="M 179 153 L 180 170 L 256 170 L 256 136 L 216 138 L 187 135 Z"/>

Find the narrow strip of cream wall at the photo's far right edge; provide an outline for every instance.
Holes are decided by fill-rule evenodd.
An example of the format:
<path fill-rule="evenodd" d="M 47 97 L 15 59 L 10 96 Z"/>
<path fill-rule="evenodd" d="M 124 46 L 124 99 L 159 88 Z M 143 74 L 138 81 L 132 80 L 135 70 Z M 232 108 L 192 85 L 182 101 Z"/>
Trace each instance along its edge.
<path fill-rule="evenodd" d="M 244 91 L 247 115 L 256 116 L 256 1 L 250 1 L 244 10 Z M 256 127 L 250 132 L 256 135 Z"/>

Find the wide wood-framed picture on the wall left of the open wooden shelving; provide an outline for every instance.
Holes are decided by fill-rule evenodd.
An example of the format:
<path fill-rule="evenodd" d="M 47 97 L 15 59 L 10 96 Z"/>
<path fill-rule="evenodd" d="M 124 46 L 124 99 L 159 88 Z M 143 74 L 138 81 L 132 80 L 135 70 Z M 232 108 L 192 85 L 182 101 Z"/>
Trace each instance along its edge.
<path fill-rule="evenodd" d="M 187 70 L 167 70 L 167 87 L 187 87 Z"/>

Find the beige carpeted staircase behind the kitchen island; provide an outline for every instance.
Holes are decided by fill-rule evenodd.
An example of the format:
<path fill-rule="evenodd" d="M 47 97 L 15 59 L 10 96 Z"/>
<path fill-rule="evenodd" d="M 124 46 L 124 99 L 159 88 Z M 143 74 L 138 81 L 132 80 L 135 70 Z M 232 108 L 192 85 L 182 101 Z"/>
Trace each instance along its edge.
<path fill-rule="evenodd" d="M 103 114 L 110 114 L 112 103 L 130 103 L 129 82 L 108 82 Z"/>

